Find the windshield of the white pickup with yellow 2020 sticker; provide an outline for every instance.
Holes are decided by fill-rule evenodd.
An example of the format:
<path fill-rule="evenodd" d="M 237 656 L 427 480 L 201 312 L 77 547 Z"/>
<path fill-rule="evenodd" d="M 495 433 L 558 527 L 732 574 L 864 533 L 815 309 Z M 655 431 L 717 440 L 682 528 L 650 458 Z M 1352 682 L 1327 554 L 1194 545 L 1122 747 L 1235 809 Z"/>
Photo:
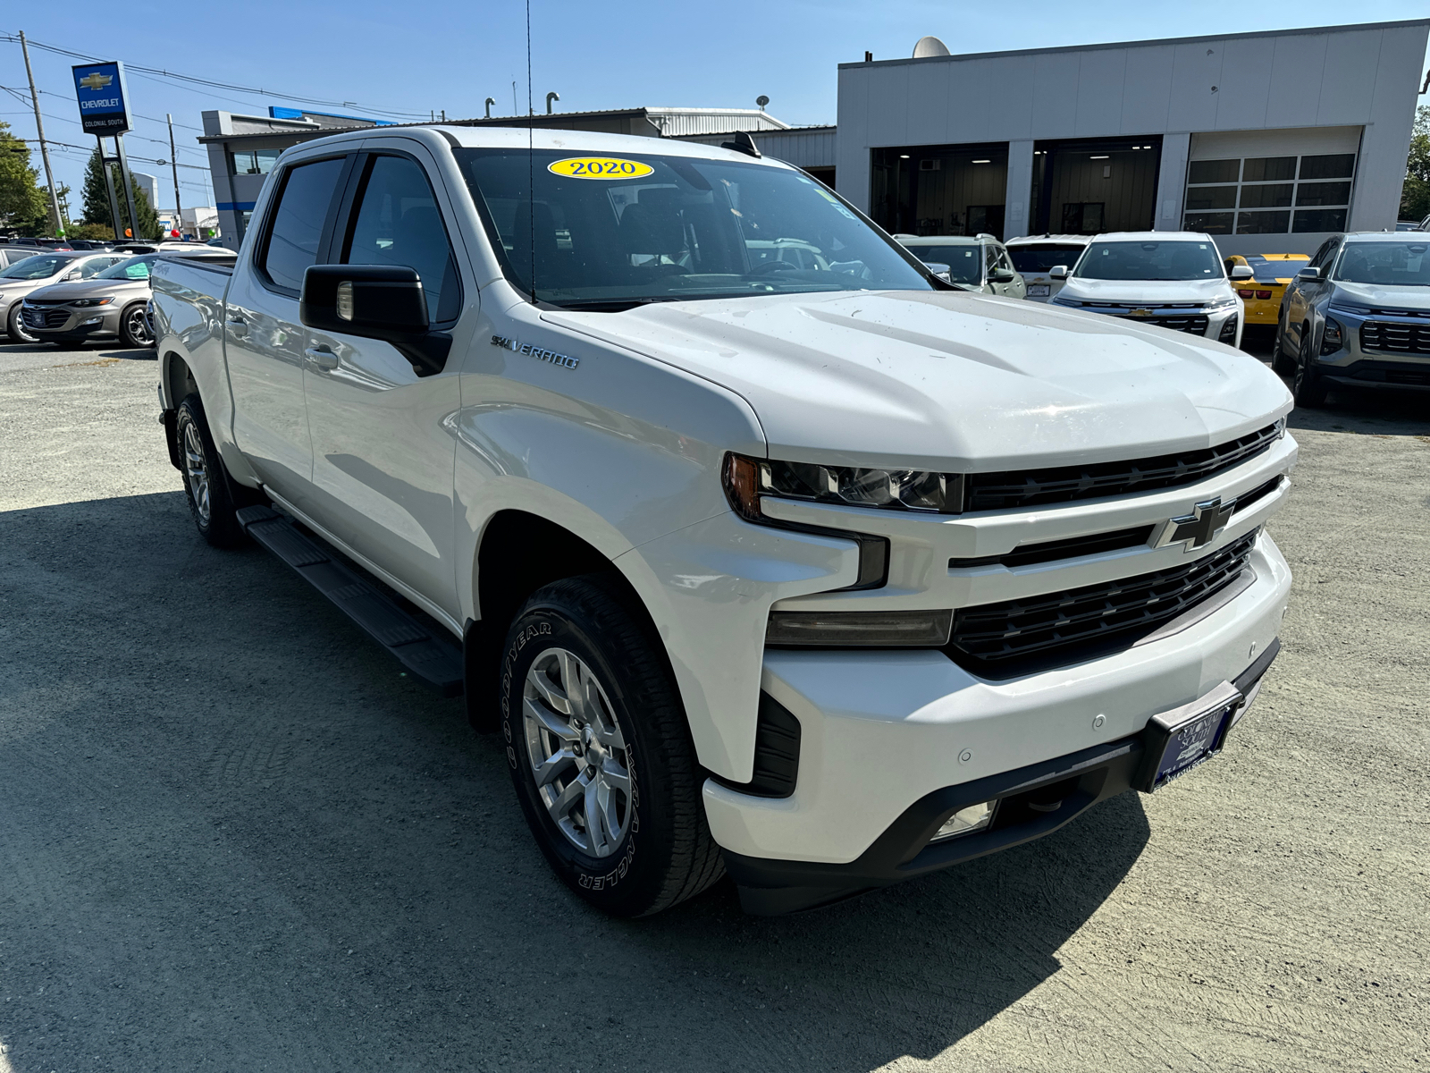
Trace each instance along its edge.
<path fill-rule="evenodd" d="M 553 305 L 618 310 L 934 289 L 912 258 L 789 167 L 552 150 L 455 155 L 506 278 Z"/>

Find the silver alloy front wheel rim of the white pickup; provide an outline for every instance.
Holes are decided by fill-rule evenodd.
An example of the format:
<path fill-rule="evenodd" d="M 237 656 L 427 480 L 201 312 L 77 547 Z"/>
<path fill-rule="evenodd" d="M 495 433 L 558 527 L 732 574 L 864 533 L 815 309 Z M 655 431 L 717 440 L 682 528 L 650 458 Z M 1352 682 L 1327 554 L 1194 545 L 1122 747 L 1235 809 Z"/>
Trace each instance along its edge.
<path fill-rule="evenodd" d="M 546 814 L 572 846 L 609 857 L 631 830 L 631 750 L 611 698 L 573 652 L 548 648 L 522 685 L 526 760 Z"/>

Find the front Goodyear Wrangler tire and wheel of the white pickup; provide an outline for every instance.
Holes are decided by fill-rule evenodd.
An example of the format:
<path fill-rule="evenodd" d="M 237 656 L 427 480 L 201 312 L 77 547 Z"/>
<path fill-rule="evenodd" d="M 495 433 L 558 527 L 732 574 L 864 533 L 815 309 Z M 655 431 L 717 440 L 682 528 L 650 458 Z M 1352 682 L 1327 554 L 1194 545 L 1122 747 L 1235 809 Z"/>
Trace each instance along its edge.
<path fill-rule="evenodd" d="M 506 760 L 546 861 L 588 903 L 659 913 L 724 873 L 659 641 L 601 575 L 539 589 L 502 654 Z"/>

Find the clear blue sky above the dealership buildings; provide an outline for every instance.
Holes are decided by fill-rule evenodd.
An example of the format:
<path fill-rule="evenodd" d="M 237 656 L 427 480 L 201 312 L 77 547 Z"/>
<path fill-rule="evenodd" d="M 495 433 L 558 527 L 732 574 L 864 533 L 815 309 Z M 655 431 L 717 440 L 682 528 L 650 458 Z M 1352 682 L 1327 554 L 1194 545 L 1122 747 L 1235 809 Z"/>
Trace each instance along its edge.
<path fill-rule="evenodd" d="M 768 94 L 771 114 L 786 123 L 832 123 L 839 63 L 862 60 L 865 50 L 875 59 L 908 56 L 924 34 L 942 37 L 954 53 L 970 53 L 1390 21 L 1426 13 L 1423 3 L 1391 0 L 1256 7 L 1147 0 L 532 0 L 532 87 L 538 110 L 548 90 L 561 93 L 561 112 L 636 104 L 754 107 L 756 96 Z M 340 6 L 126 0 L 104 9 L 51 3 L 26 6 L 23 23 L 4 29 L 23 29 L 34 41 L 99 59 L 353 102 L 333 110 L 356 114 L 385 109 L 418 117 L 446 109 L 449 117 L 480 116 L 488 96 L 498 102 L 493 114 L 513 114 L 513 82 L 519 107 L 526 103 L 525 4 L 512 0 L 347 0 Z M 77 215 L 93 139 L 80 133 L 76 120 L 69 70 L 76 60 L 31 50 L 31 62 L 46 136 L 83 146 L 51 157 L 57 179 L 74 190 L 70 205 Z M 19 44 L 0 41 L 0 86 L 24 90 Z M 183 124 L 174 132 L 179 160 L 199 166 L 206 166 L 193 140 L 200 112 L 263 113 L 267 104 L 290 103 L 282 96 L 200 93 L 133 73 L 129 92 L 130 107 L 140 116 L 162 120 L 173 113 L 174 123 Z M 34 137 L 33 116 L 9 93 L 0 93 L 0 120 L 20 137 Z M 132 157 L 169 157 L 162 122 L 136 120 L 127 146 Z M 172 190 L 166 167 L 143 162 L 134 167 L 159 173 L 160 190 Z M 183 169 L 180 179 L 184 203 L 212 205 L 206 167 Z M 172 195 L 162 200 L 167 205 Z"/>

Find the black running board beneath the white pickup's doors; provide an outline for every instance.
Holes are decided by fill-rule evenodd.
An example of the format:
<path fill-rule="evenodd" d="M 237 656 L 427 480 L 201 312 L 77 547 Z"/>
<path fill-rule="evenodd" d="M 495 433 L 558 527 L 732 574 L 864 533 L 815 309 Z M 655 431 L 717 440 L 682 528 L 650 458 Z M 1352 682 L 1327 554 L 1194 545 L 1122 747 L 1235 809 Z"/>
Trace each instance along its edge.
<path fill-rule="evenodd" d="M 462 645 L 398 607 L 376 585 L 345 565 L 320 541 L 299 532 L 267 506 L 237 511 L 249 536 L 297 571 L 337 609 L 388 650 L 408 674 L 443 697 L 462 695 Z"/>

